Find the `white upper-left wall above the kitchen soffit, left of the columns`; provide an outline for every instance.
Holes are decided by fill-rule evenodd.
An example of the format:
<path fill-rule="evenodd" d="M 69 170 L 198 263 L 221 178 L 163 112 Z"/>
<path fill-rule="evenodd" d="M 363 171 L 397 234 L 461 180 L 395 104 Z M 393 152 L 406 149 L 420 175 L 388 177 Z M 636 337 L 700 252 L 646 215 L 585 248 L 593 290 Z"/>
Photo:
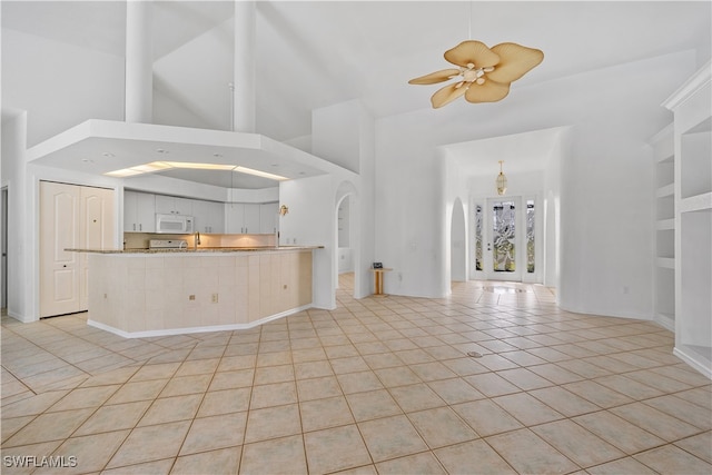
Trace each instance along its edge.
<path fill-rule="evenodd" d="M 87 119 L 123 120 L 123 58 L 2 28 L 2 101 L 28 111 L 28 148 Z"/>

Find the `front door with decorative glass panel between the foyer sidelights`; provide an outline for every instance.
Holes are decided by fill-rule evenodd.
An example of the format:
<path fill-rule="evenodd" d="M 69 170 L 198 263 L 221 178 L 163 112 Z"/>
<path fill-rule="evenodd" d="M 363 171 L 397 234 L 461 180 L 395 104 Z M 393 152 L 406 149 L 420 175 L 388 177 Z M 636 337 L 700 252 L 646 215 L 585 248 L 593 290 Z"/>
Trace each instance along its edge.
<path fill-rule="evenodd" d="M 521 202 L 518 196 L 487 199 L 483 257 L 490 280 L 522 280 L 526 245 Z"/>

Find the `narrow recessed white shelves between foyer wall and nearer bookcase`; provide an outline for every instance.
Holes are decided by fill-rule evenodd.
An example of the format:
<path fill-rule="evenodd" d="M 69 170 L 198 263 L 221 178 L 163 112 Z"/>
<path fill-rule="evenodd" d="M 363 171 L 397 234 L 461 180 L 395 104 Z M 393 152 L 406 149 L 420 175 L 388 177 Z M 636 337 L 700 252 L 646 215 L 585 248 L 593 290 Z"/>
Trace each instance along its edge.
<path fill-rule="evenodd" d="M 675 330 L 675 147 L 673 125 L 652 139 L 655 160 L 655 321 Z"/>

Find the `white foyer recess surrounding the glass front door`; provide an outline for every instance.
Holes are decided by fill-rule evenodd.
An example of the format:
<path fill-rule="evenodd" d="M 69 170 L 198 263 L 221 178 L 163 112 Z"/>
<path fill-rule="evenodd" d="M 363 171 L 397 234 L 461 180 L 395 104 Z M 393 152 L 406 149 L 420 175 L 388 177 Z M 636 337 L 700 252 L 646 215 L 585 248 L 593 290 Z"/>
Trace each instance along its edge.
<path fill-rule="evenodd" d="M 508 189 L 505 198 L 518 199 L 516 208 L 526 212 L 528 208 L 534 225 L 525 226 L 528 221 L 517 215 L 517 228 L 530 231 L 534 236 L 533 256 L 535 265 L 528 261 L 518 263 L 522 275 L 517 281 L 542 283 L 547 286 L 556 286 L 558 283 L 560 243 L 558 201 L 561 195 L 561 164 L 565 152 L 565 142 L 568 127 L 532 130 L 510 136 L 492 137 L 458 144 L 448 144 L 438 148 L 438 155 L 443 159 L 443 273 L 441 279 L 443 286 L 451 281 L 478 280 L 494 278 L 485 271 L 488 267 L 479 263 L 476 265 L 476 208 L 483 209 L 482 249 L 487 249 L 487 238 L 492 237 L 492 230 L 485 236 L 484 226 L 491 226 L 485 218 L 487 201 L 493 197 L 500 198 L 495 188 L 495 178 L 500 171 L 498 160 L 504 161 L 504 172 L 508 177 Z M 461 197 L 466 197 L 462 201 Z M 464 217 L 463 217 L 464 216 Z M 461 217 L 462 221 L 461 221 Z M 458 243 L 462 235 L 461 224 L 465 226 L 465 241 Z M 522 235 L 522 236 L 526 236 Z M 490 241 L 492 241 L 490 239 Z M 528 243 L 528 241 L 527 241 Z M 528 246 L 520 243 L 521 249 Z M 469 251 L 472 249 L 472 251 Z M 465 275 L 462 275 L 462 255 L 464 253 Z M 526 257 L 526 253 L 522 257 Z M 481 259 L 482 260 L 482 259 Z"/>

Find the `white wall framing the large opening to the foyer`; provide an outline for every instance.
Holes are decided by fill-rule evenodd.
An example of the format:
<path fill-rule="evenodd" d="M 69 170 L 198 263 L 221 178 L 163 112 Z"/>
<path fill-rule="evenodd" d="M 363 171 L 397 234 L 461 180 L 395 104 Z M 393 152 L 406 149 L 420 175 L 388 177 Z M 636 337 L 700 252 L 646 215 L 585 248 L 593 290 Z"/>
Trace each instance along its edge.
<path fill-rule="evenodd" d="M 526 88 L 514 83 L 501 103 L 461 101 L 378 120 L 377 254 L 403 278 L 389 293 L 446 291 L 438 281 L 449 240 L 442 232 L 446 180 L 437 146 L 572 126 L 561 157 L 561 304 L 650 317 L 652 162 L 645 141 L 671 120 L 660 103 L 694 70 L 694 51 L 668 55 Z M 589 88 L 592 80 L 602 87 Z"/>

